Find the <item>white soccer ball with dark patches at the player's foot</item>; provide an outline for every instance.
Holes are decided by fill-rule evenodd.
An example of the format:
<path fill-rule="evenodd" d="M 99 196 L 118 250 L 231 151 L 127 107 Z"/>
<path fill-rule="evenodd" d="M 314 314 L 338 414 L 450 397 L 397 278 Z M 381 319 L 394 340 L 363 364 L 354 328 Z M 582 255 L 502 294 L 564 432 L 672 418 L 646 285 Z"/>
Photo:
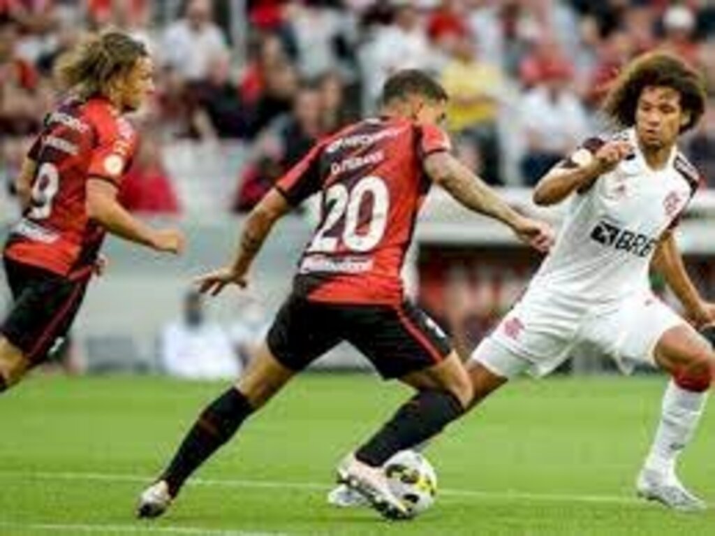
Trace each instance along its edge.
<path fill-rule="evenodd" d="M 403 450 L 388 459 L 383 467 L 390 490 L 416 516 L 428 510 L 437 494 L 437 474 L 419 452 Z"/>

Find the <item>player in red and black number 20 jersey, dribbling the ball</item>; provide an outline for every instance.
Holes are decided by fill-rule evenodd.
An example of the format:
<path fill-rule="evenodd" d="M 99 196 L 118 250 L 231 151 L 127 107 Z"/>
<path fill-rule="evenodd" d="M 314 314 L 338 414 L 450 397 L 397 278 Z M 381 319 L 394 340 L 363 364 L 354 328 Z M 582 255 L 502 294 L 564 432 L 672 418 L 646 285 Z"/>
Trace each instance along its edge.
<path fill-rule="evenodd" d="M 142 492 L 137 515 L 161 515 L 192 472 L 297 372 L 340 341 L 349 341 L 386 378 L 418 392 L 383 429 L 346 457 L 339 476 L 375 510 L 407 515 L 388 488 L 382 464 L 458 418 L 472 399 L 469 378 L 440 329 L 405 301 L 400 268 L 420 205 L 432 182 L 465 207 L 509 225 L 536 248 L 551 230 L 511 210 L 450 155 L 437 126 L 447 94 L 423 72 L 394 74 L 383 89 L 383 114 L 315 145 L 252 210 L 235 261 L 199 278 L 203 292 L 243 287 L 252 260 L 275 222 L 322 193 L 322 218 L 298 265 L 267 341 L 235 386 L 197 419 L 157 482 Z"/>

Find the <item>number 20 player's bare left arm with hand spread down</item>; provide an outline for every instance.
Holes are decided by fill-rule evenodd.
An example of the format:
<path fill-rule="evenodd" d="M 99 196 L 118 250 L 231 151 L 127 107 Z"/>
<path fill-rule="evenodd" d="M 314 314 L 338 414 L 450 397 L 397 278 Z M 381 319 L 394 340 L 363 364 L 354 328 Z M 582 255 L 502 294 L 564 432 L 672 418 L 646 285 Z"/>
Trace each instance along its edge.
<path fill-rule="evenodd" d="M 234 283 L 247 285 L 247 274 L 270 234 L 273 225 L 291 208 L 285 195 L 272 188 L 246 218 L 233 262 L 225 268 L 207 273 L 197 279 L 199 291 L 216 296 L 223 288 Z"/>

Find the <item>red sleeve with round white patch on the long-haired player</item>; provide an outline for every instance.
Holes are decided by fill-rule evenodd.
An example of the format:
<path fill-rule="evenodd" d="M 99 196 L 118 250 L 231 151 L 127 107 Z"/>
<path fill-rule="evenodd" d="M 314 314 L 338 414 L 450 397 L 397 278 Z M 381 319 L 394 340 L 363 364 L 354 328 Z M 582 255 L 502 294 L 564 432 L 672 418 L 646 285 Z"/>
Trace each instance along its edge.
<path fill-rule="evenodd" d="M 87 169 L 87 176 L 112 182 L 119 187 L 129 169 L 137 147 L 137 136 L 126 126 L 97 125 L 97 139 Z"/>

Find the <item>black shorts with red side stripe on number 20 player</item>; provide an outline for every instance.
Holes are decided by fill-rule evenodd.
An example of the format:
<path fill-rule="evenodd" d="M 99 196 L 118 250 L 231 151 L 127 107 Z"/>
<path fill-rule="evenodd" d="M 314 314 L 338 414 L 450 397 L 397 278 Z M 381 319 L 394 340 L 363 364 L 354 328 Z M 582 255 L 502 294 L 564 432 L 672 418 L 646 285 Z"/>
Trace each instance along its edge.
<path fill-rule="evenodd" d="M 278 311 L 267 339 L 275 358 L 294 371 L 342 341 L 355 346 L 385 379 L 438 364 L 451 351 L 447 336 L 412 303 L 322 303 L 295 294 Z"/>

